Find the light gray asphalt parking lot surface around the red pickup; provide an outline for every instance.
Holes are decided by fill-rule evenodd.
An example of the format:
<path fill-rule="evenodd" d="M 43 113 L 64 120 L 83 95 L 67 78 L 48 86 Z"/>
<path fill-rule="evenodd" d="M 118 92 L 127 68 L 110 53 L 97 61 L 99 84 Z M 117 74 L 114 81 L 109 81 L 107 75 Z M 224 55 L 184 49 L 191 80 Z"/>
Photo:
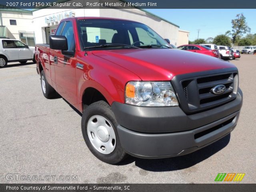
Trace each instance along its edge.
<path fill-rule="evenodd" d="M 230 135 L 185 156 L 118 165 L 88 150 L 81 114 L 61 97 L 44 98 L 36 64 L 0 68 L 0 183 L 214 183 L 218 173 L 245 173 L 241 183 L 256 183 L 256 55 L 230 62 L 244 94 Z"/>

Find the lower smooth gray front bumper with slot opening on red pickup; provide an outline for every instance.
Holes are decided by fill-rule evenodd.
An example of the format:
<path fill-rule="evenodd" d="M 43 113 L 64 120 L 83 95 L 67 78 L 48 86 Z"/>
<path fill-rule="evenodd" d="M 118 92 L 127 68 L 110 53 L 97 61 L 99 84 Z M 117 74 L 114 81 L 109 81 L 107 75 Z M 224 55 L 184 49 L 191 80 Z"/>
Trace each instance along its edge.
<path fill-rule="evenodd" d="M 128 154 L 140 158 L 167 158 L 194 152 L 226 136 L 235 128 L 239 113 L 235 112 L 211 124 L 184 132 L 147 134 L 120 125 L 117 130 L 121 145 Z"/>

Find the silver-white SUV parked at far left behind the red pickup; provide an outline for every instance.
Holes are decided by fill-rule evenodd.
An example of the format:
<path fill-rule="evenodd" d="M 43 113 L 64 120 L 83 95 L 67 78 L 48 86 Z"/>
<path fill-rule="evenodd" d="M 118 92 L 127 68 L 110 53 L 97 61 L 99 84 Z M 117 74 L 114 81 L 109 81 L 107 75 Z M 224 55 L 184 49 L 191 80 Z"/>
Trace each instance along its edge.
<path fill-rule="evenodd" d="M 16 39 L 0 39 L 0 68 L 6 67 L 8 62 L 26 63 L 34 60 L 35 47 L 29 47 Z"/>

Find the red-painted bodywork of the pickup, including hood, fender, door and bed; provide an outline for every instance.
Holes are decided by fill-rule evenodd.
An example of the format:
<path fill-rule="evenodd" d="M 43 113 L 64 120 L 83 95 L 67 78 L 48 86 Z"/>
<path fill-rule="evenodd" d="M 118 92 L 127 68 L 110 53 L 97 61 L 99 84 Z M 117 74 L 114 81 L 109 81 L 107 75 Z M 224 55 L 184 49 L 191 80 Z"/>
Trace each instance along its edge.
<path fill-rule="evenodd" d="M 89 18 L 65 20 L 71 21 L 77 29 L 77 19 Z M 61 51 L 40 44 L 36 45 L 35 58 L 38 68 L 42 65 L 50 85 L 81 112 L 86 88 L 97 89 L 111 105 L 114 101 L 124 103 L 124 88 L 129 81 L 169 81 L 179 74 L 235 67 L 204 54 L 164 48 L 96 50 L 88 51 L 85 56 L 77 31 L 74 37 L 76 52 L 73 58 L 66 58 Z M 54 64 L 54 56 L 58 56 L 60 64 Z M 84 68 L 77 68 L 77 63 Z"/>

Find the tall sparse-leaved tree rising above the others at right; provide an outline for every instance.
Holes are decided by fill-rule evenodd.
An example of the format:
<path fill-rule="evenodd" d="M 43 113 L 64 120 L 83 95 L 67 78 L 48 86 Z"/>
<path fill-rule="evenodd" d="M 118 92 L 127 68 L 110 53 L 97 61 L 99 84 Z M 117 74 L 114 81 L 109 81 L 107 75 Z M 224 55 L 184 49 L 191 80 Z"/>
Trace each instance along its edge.
<path fill-rule="evenodd" d="M 232 36 L 232 42 L 236 43 L 236 40 L 239 36 L 242 36 L 243 34 L 251 31 L 251 28 L 248 26 L 248 24 L 245 21 L 244 14 L 237 14 L 236 19 L 232 19 L 232 32 L 227 31 L 226 35 Z"/>

